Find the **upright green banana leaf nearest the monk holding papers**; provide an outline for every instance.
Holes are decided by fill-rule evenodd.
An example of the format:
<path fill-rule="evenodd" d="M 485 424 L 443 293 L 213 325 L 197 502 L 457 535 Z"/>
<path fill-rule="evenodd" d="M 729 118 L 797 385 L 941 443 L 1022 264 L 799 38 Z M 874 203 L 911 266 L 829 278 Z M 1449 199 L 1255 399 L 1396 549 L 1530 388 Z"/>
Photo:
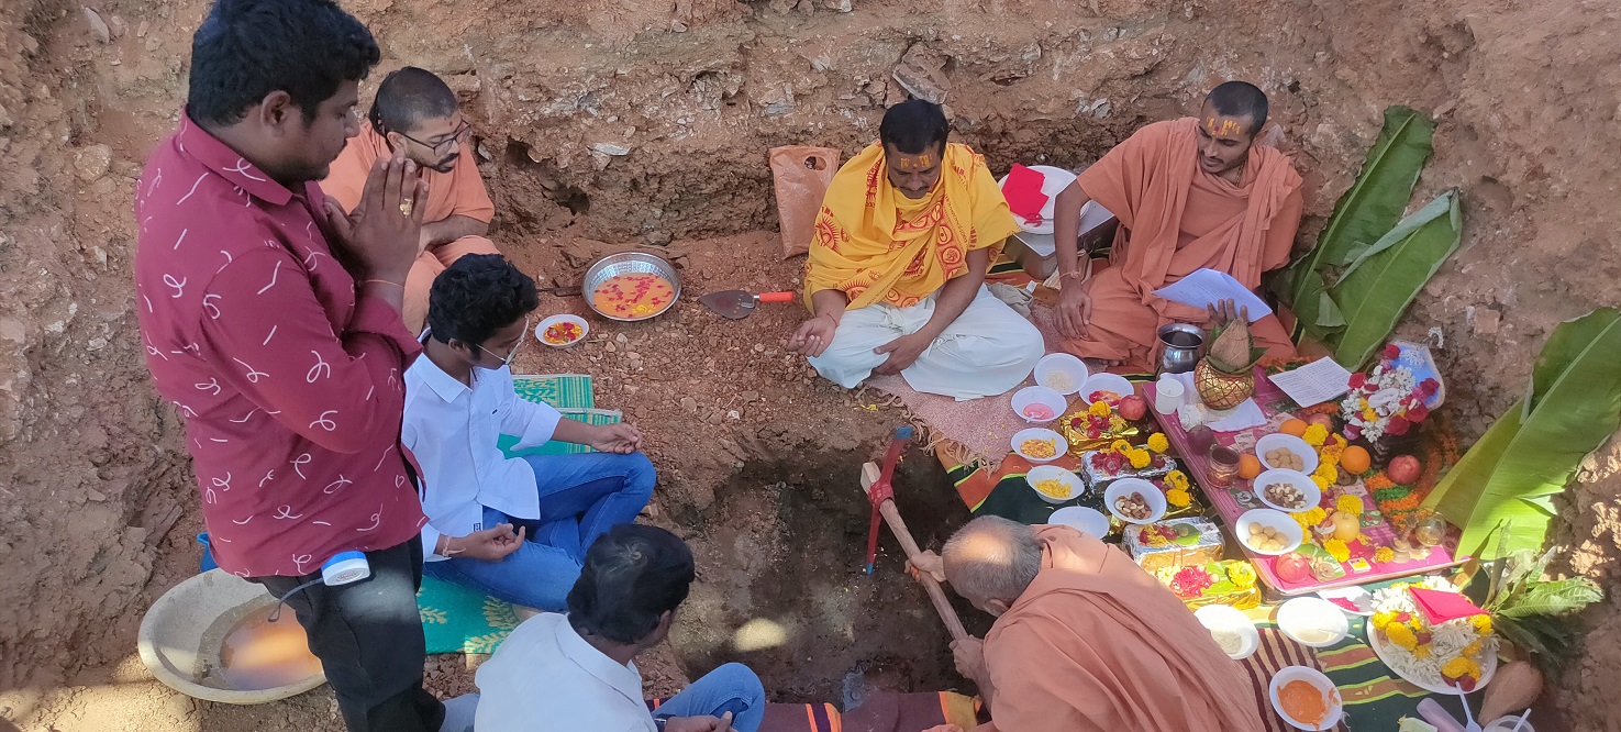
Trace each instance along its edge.
<path fill-rule="evenodd" d="M 1292 267 L 1285 296 L 1290 306 L 1315 308 L 1315 298 L 1307 295 L 1321 287 L 1313 287 L 1313 280 L 1350 264 L 1358 245 L 1378 241 L 1396 225 L 1430 159 L 1433 136 L 1435 121 L 1428 117 L 1407 107 L 1384 110 L 1384 126 L 1368 149 L 1357 181 L 1334 204 L 1316 246 Z M 1316 322 L 1316 317 L 1302 317 L 1302 322 Z"/>

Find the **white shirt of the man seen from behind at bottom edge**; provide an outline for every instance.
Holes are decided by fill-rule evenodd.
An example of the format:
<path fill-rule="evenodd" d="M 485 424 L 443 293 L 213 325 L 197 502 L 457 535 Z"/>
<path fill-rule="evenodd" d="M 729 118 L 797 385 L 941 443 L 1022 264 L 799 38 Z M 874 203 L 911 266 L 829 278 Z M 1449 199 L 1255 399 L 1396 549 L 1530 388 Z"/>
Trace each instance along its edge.
<path fill-rule="evenodd" d="M 473 677 L 478 732 L 655 732 L 642 672 L 619 666 L 569 625 L 543 612 L 524 620 Z"/>

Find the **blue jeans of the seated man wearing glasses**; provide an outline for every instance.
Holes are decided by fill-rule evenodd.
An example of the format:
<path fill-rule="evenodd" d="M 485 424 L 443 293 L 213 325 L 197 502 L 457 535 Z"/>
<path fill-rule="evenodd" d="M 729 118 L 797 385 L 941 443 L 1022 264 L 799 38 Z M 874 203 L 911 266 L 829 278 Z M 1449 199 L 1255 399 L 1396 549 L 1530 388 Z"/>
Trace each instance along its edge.
<path fill-rule="evenodd" d="M 512 518 L 485 507 L 485 528 L 522 526 L 524 546 L 499 562 L 470 557 L 425 562 L 423 573 L 524 607 L 561 612 L 592 543 L 616 525 L 635 521 L 653 497 L 653 463 L 640 452 L 524 455 L 522 460 L 535 468 L 540 518 Z"/>

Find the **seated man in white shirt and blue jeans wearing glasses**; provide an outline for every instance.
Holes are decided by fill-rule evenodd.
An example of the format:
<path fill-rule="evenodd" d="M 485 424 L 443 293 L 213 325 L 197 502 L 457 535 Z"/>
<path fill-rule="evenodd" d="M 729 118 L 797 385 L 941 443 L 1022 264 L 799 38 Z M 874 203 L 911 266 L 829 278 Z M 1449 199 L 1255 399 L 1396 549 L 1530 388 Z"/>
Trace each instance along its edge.
<path fill-rule="evenodd" d="M 635 428 L 566 419 L 512 390 L 507 364 L 538 304 L 535 280 L 499 254 L 468 254 L 439 274 L 421 356 L 405 371 L 400 440 L 421 465 L 423 573 L 561 611 L 585 549 L 635 520 L 655 475 Z M 517 449 L 561 440 L 601 452 L 509 460 L 501 434 L 517 436 Z"/>

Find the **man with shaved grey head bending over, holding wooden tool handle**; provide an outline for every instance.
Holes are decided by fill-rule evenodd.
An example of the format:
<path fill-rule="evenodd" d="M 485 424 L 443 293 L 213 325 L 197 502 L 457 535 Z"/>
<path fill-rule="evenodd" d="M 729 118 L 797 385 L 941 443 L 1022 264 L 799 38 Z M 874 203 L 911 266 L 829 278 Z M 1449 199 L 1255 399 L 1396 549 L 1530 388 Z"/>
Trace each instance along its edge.
<path fill-rule="evenodd" d="M 990 708 L 976 732 L 1263 729 L 1238 664 L 1120 549 L 979 517 L 913 564 L 997 617 L 984 641 L 952 645 Z"/>

